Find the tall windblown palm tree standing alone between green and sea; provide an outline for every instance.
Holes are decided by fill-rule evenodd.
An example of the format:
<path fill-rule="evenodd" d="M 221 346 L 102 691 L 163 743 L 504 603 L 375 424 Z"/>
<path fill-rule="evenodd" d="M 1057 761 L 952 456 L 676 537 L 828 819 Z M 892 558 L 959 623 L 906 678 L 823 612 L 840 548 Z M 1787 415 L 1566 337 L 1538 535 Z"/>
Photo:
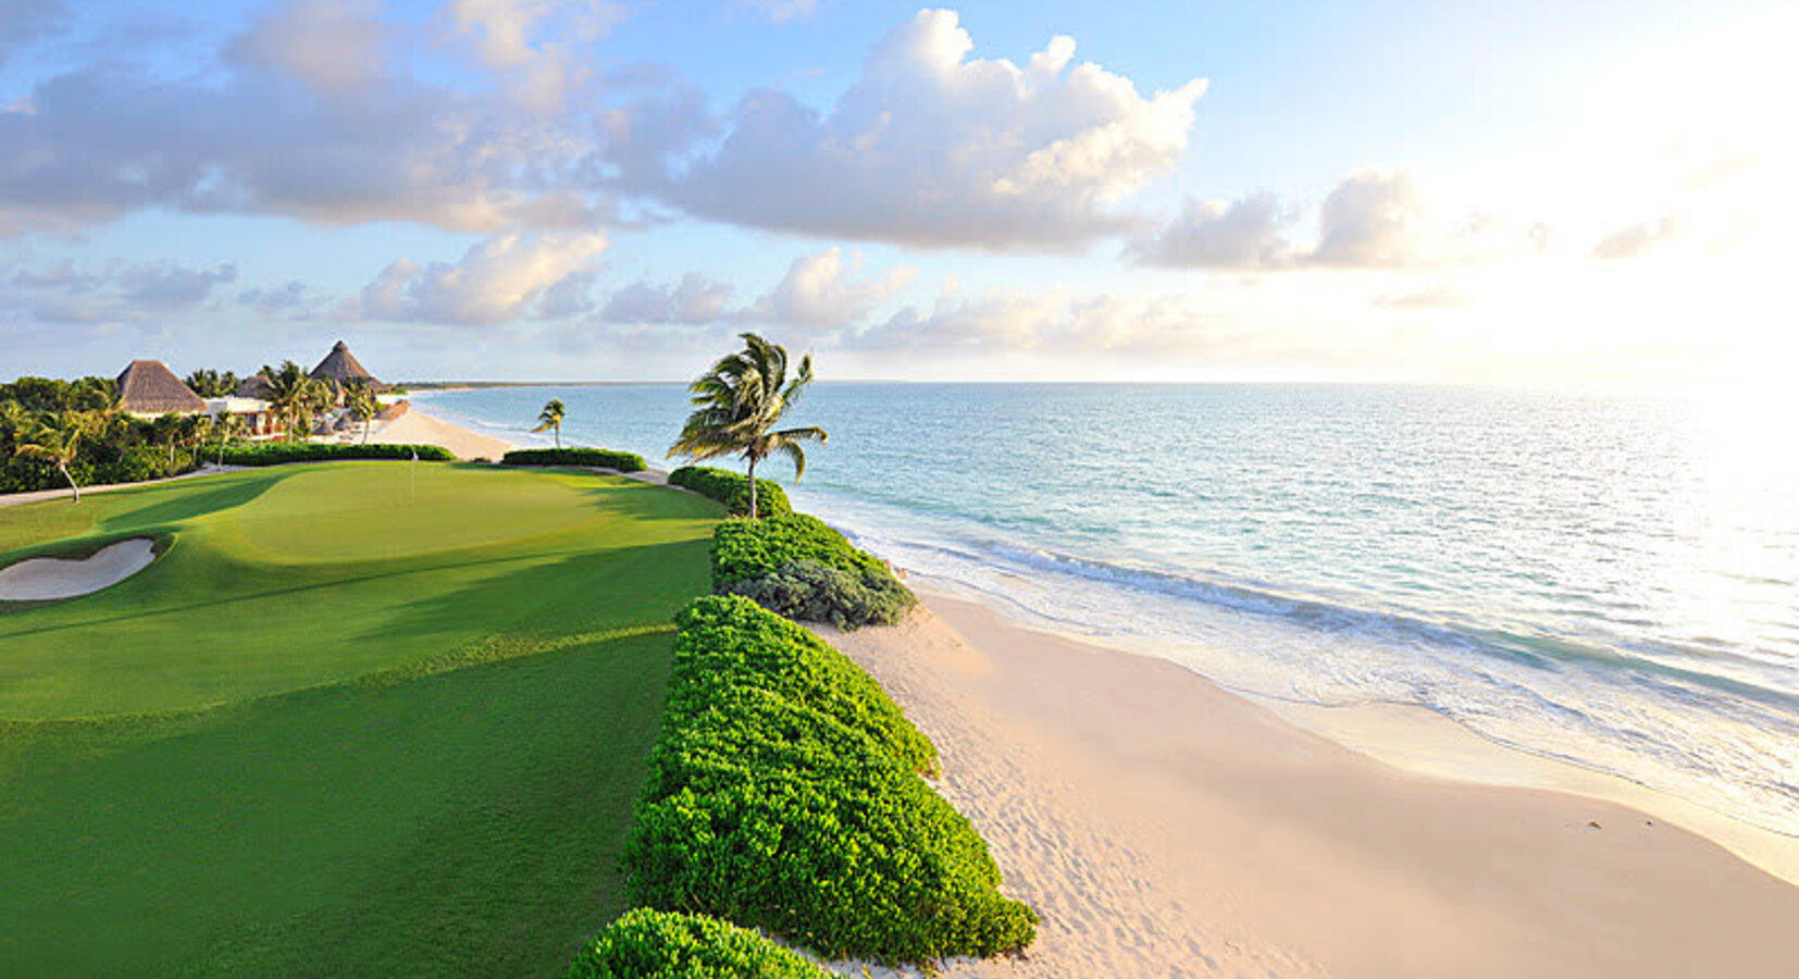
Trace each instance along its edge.
<path fill-rule="evenodd" d="M 786 347 L 754 333 L 739 335 L 743 349 L 721 358 L 700 374 L 693 391 L 694 412 L 682 425 L 669 455 L 693 459 L 739 454 L 750 464 L 750 520 L 756 518 L 756 464 L 779 452 L 793 461 L 793 479 L 806 475 L 806 450 L 801 443 L 824 445 L 824 428 L 775 428 L 811 383 L 811 355 L 799 362 L 788 380 Z"/>

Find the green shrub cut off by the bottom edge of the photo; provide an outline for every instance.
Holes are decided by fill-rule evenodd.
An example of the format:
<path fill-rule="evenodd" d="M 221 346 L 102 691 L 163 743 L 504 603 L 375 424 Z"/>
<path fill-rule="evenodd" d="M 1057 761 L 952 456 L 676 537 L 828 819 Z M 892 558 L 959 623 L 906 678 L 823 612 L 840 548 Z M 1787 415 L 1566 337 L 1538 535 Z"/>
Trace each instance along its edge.
<path fill-rule="evenodd" d="M 568 979 L 831 979 L 831 974 L 727 921 L 639 907 L 576 956 Z"/>

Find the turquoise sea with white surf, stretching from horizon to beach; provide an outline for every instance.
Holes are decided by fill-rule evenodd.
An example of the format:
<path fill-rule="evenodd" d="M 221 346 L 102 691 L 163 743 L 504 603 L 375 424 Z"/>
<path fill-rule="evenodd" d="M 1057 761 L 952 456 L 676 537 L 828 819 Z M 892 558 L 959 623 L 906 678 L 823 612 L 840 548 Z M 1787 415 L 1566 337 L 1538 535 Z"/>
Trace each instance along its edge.
<path fill-rule="evenodd" d="M 680 385 L 428 394 L 660 461 Z M 1250 693 L 1418 704 L 1799 833 L 1795 405 L 1439 387 L 820 383 L 795 504 Z M 666 464 L 666 463 L 664 463 Z M 772 466 L 783 481 L 784 464 Z"/>

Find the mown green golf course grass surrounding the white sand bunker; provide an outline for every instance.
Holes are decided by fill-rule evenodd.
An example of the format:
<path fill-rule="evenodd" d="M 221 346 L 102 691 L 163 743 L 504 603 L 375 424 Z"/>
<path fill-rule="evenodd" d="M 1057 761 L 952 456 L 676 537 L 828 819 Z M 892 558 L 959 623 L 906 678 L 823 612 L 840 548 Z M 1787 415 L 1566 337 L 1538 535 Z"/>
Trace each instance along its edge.
<path fill-rule="evenodd" d="M 671 617 L 723 507 L 592 472 L 246 470 L 0 507 L 0 963 L 559 975 L 624 911 Z"/>

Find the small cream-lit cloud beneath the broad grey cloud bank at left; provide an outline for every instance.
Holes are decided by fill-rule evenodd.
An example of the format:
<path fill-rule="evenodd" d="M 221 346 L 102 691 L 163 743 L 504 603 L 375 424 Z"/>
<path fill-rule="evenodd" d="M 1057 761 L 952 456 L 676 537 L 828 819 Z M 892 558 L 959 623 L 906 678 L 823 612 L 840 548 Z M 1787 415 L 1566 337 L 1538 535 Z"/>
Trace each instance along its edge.
<path fill-rule="evenodd" d="M 488 326 L 541 313 L 541 302 L 570 281 L 585 281 L 601 234 L 502 234 L 471 247 L 457 263 L 421 266 L 399 259 L 362 290 L 353 313 L 376 320 Z M 558 297 L 567 302 L 567 295 Z"/>

